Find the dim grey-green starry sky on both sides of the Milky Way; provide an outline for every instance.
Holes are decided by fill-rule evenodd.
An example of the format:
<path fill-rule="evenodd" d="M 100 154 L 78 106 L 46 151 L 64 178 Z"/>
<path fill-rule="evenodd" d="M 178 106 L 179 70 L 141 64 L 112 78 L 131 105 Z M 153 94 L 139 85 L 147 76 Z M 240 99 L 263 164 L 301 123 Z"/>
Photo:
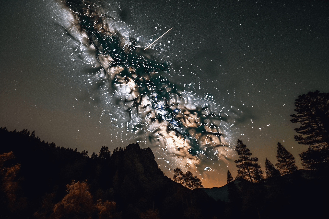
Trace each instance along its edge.
<path fill-rule="evenodd" d="M 79 58 L 77 42 L 61 27 L 70 25 L 67 11 L 55 1 L 0 4 L 0 126 L 35 130 L 41 140 L 89 154 L 104 145 L 112 151 L 143 140 L 117 127 L 114 116 L 104 114 L 115 115 L 115 104 L 109 107 L 100 90 L 85 83 L 92 79 L 92 63 Z M 118 31 L 144 47 L 173 28 L 149 53 L 177 70 L 165 75 L 170 81 L 194 84 L 193 97 L 211 95 L 212 102 L 231 112 L 229 145 L 242 140 L 264 170 L 266 157 L 276 163 L 281 142 L 302 168 L 298 154 L 307 146 L 294 141 L 298 125 L 290 115 L 298 95 L 329 92 L 328 1 L 122 0 L 104 5 Z M 171 177 L 164 157 L 152 150 Z M 236 176 L 234 160 L 205 170 L 205 187 L 225 185 L 228 168 Z"/>

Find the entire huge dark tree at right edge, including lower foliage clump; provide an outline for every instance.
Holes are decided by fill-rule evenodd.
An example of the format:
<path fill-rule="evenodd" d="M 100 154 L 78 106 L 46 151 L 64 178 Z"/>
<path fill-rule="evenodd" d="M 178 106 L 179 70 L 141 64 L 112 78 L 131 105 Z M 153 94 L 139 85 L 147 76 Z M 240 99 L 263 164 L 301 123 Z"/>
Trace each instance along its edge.
<path fill-rule="evenodd" d="M 309 145 L 307 151 L 299 154 L 305 169 L 328 169 L 329 167 L 329 93 L 308 92 L 298 96 L 291 122 L 300 123 L 295 131 L 299 144 Z M 306 135 L 306 137 L 303 137 Z"/>

